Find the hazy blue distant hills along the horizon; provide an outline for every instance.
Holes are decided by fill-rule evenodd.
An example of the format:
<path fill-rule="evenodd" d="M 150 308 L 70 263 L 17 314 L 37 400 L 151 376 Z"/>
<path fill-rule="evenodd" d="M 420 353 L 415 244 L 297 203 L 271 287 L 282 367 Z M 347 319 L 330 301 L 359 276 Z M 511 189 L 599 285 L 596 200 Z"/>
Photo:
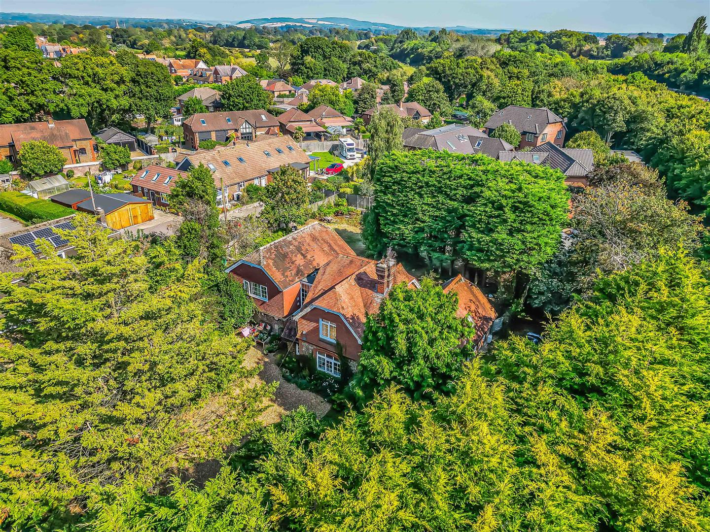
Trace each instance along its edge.
<path fill-rule="evenodd" d="M 249 26 L 264 26 L 271 28 L 281 28 L 288 30 L 289 28 L 344 28 L 356 31 L 371 31 L 373 33 L 398 33 L 404 28 L 412 28 L 420 33 L 425 33 L 431 30 L 439 30 L 439 26 L 398 26 L 396 24 L 388 24 L 383 22 L 359 21 L 356 18 L 345 17 L 318 17 L 318 18 L 289 18 L 289 17 L 268 17 L 268 18 L 249 18 L 245 21 L 224 21 L 224 20 L 206 20 L 195 21 L 187 18 L 126 18 L 126 17 L 110 17 L 110 16 L 89 16 L 89 15 L 58 15 L 48 13 L 1 13 L 0 24 L 23 24 L 39 22 L 44 24 L 76 24 L 84 26 L 133 26 L 135 28 L 195 28 L 198 26 L 239 26 L 248 28 Z M 448 30 L 456 31 L 457 33 L 467 33 L 471 35 L 489 35 L 498 36 L 501 33 L 507 33 L 513 28 L 471 28 L 469 26 L 447 26 Z M 522 29 L 522 28 L 517 28 Z M 526 31 L 526 30 L 523 30 Z M 604 38 L 610 35 L 609 32 L 602 33 L 589 31 L 591 35 Z M 621 35 L 639 35 L 639 33 L 621 33 Z M 646 36 L 662 36 L 662 33 L 640 33 Z M 674 34 L 667 34 L 674 35 Z"/>

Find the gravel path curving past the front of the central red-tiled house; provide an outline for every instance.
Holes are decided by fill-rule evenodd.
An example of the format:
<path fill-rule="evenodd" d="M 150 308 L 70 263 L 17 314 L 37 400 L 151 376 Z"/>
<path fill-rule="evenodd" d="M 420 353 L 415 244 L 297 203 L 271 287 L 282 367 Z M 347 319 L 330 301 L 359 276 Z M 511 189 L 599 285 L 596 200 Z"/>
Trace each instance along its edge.
<path fill-rule="evenodd" d="M 288 382 L 281 375 L 281 370 L 278 368 L 275 355 L 261 353 L 256 348 L 251 348 L 247 355 L 249 362 L 262 364 L 263 369 L 259 372 L 259 378 L 266 382 L 278 382 L 278 388 L 274 393 L 273 401 L 274 408 L 281 415 L 297 409 L 303 405 L 310 411 L 314 411 L 318 418 L 322 418 L 330 409 L 330 404 L 320 397 L 318 394 L 300 389 L 295 384 Z M 273 413 L 272 413 L 273 414 Z"/>

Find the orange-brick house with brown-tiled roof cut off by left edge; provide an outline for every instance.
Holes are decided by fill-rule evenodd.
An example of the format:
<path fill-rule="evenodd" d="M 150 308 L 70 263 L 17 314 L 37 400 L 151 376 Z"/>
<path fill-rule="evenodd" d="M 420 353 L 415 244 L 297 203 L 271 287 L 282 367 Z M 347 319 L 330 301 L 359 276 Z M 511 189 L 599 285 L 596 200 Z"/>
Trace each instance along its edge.
<path fill-rule="evenodd" d="M 98 147 L 83 118 L 0 125 L 0 157 L 16 164 L 22 143 L 28 140 L 56 146 L 67 157 L 67 165 L 97 160 Z"/>

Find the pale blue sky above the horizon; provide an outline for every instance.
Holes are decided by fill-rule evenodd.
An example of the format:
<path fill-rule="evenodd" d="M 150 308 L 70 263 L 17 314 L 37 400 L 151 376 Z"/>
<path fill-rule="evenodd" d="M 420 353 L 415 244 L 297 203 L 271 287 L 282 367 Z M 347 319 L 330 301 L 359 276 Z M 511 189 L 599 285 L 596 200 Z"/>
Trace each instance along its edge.
<path fill-rule="evenodd" d="M 200 21 L 341 16 L 400 26 L 687 33 L 710 0 L 0 0 L 0 11 Z"/>

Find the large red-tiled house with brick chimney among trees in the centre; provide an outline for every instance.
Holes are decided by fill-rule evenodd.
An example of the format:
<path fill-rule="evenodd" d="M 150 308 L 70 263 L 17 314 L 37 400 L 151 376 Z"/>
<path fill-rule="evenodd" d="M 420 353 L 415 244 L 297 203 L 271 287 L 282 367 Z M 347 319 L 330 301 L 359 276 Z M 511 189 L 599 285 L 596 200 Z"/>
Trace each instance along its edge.
<path fill-rule="evenodd" d="M 226 271 L 244 284 L 261 318 L 336 377 L 341 364 L 359 360 L 366 317 L 378 312 L 391 287 L 419 286 L 394 260 L 358 257 L 321 223 L 259 248 Z"/>

